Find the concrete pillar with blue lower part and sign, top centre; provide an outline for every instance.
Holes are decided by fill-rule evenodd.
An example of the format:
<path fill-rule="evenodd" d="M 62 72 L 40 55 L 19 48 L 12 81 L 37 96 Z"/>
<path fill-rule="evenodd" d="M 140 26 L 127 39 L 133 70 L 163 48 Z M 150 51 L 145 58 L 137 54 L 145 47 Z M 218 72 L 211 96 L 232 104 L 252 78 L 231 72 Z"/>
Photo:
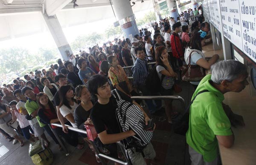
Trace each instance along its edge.
<path fill-rule="evenodd" d="M 125 38 L 130 40 L 139 34 L 134 13 L 129 0 L 112 0 L 116 19 L 118 20 Z"/>

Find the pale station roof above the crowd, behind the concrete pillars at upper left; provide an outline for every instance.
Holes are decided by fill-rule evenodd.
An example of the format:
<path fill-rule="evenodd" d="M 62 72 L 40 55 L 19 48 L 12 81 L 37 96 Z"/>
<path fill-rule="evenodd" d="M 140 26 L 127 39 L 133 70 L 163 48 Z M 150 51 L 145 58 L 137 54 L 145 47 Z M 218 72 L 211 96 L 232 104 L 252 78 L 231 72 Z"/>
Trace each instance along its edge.
<path fill-rule="evenodd" d="M 0 41 L 48 31 L 44 13 L 58 17 L 62 28 L 113 18 L 109 0 L 0 0 Z M 153 8 L 152 0 L 131 0 L 134 13 Z M 112 5 L 114 5 L 112 3 Z"/>

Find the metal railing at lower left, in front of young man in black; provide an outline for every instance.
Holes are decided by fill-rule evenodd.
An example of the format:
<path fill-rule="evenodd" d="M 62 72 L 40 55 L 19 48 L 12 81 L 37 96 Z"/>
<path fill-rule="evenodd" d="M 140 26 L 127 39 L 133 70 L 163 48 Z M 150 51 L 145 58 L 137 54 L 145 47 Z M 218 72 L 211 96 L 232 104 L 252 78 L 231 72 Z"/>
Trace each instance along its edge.
<path fill-rule="evenodd" d="M 52 123 L 51 124 L 52 126 L 57 126 L 57 127 L 60 127 L 62 128 L 62 125 L 61 124 L 58 124 L 58 123 Z M 87 132 L 85 130 L 82 130 L 82 129 L 77 129 L 77 128 L 74 128 L 72 126 L 68 126 L 68 125 L 65 125 L 67 126 L 67 129 L 71 130 L 71 131 L 76 131 L 76 132 L 79 132 L 79 133 L 82 133 L 82 134 L 87 134 Z M 52 128 L 50 127 L 50 129 L 52 130 Z M 52 132 L 54 133 L 55 137 L 57 138 L 58 142 L 60 143 L 61 147 L 64 149 L 64 151 L 66 152 L 66 156 L 69 155 L 69 151 L 67 150 L 67 147 L 62 143 L 62 141 L 60 140 L 60 138 L 58 137 L 58 134 L 56 134 L 53 130 Z M 131 162 L 129 161 L 126 153 L 125 153 L 125 148 L 124 146 L 122 145 L 122 143 L 120 142 L 117 142 L 117 145 L 119 145 L 119 147 L 121 148 L 122 150 L 122 153 L 125 157 L 125 160 L 127 162 L 124 162 L 122 160 L 119 160 L 119 159 L 116 159 L 116 158 L 113 158 L 113 157 L 110 157 L 108 155 L 105 155 L 105 154 L 101 154 L 98 150 L 98 148 L 96 147 L 96 145 L 89 140 L 89 143 L 93 146 L 93 149 L 95 151 L 95 154 L 99 157 L 99 159 L 101 160 L 102 162 L 102 165 L 107 165 L 105 159 L 108 159 L 108 160 L 111 160 L 113 162 L 116 162 L 116 163 L 119 163 L 121 165 L 132 165 Z M 105 158 L 105 159 L 102 159 L 102 158 Z"/>

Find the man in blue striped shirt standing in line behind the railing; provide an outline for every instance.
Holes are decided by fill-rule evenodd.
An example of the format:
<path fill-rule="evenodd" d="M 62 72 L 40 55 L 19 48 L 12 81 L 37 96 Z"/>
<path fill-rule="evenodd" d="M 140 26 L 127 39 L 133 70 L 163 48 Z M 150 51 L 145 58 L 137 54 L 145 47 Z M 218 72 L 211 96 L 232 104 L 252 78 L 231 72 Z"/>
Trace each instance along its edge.
<path fill-rule="evenodd" d="M 143 95 L 150 96 L 151 92 L 145 87 L 145 81 L 148 77 L 148 62 L 145 60 L 145 52 L 142 47 L 135 48 L 135 55 L 137 57 L 134 66 L 131 68 L 134 79 L 134 86 L 140 90 Z M 145 100 L 149 113 L 154 114 L 157 109 L 160 109 L 162 104 L 160 100 L 156 100 L 156 106 L 152 100 Z"/>

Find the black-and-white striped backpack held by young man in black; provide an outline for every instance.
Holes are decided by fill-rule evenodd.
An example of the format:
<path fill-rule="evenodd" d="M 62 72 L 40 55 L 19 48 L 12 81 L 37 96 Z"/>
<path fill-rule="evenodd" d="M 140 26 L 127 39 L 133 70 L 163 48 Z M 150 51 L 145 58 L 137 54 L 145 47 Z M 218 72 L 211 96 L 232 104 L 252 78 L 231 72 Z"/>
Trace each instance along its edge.
<path fill-rule="evenodd" d="M 145 117 L 143 112 L 137 105 L 122 100 L 117 89 L 112 90 L 111 93 L 116 98 L 116 119 L 119 123 L 120 131 L 124 132 L 132 129 L 136 133 L 135 136 L 122 140 L 125 149 L 136 148 L 137 152 L 142 152 L 153 137 L 153 132 L 144 130 Z"/>

